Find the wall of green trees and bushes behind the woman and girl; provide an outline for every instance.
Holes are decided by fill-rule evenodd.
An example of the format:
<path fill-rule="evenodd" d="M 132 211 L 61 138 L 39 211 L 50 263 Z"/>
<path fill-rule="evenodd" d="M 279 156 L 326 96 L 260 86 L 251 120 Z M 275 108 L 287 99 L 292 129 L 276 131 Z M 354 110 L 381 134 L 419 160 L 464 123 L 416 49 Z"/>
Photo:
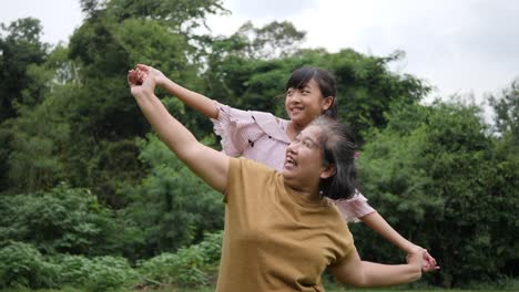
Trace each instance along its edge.
<path fill-rule="evenodd" d="M 441 265 L 414 288 L 518 288 L 519 80 L 482 100 L 431 100 L 434 84 L 394 70 L 406 59 L 398 48 L 384 55 L 309 48 L 305 31 L 283 20 L 208 34 L 207 18 L 228 13 L 218 0 L 79 2 L 84 19 L 67 43 L 43 42 L 34 18 L 0 30 L 1 288 L 214 284 L 222 197 L 151 131 L 125 81 L 136 63 L 279 116 L 293 70 L 332 71 L 340 121 L 360 146 L 362 191 Z M 157 95 L 220 147 L 210 121 Z M 350 229 L 363 259 L 405 260 L 362 223 Z"/>

